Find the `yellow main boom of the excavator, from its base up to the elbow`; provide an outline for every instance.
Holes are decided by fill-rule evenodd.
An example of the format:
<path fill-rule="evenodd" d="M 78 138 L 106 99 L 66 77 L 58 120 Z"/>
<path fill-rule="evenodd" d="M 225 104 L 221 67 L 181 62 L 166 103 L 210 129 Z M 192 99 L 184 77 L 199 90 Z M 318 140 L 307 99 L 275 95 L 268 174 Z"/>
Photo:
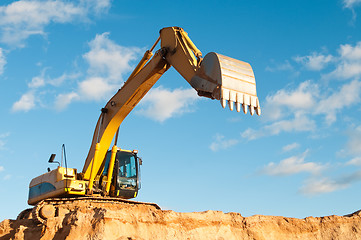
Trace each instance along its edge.
<path fill-rule="evenodd" d="M 100 174 L 104 157 L 120 124 L 169 67 L 161 52 L 157 52 L 149 63 L 133 78 L 128 79 L 108 101 L 94 131 L 91 148 L 82 171 L 84 179 L 90 180 L 91 176 Z M 99 143 L 99 152 L 97 159 L 94 159 L 97 143 Z"/>

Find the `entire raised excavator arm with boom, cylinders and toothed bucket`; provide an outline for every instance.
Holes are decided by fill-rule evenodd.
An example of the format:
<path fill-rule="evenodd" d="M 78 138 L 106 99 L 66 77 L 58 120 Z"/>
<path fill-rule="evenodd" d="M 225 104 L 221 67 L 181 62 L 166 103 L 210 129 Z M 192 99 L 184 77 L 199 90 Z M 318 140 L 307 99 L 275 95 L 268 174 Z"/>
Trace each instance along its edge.
<path fill-rule="evenodd" d="M 153 56 L 152 51 L 159 41 L 161 48 Z M 122 88 L 102 109 L 82 171 L 82 178 L 89 181 L 87 194 L 92 194 L 94 180 L 104 170 L 106 153 L 120 124 L 171 66 L 199 96 L 218 99 L 223 107 L 228 102 L 231 110 L 235 104 L 238 112 L 242 108 L 244 113 L 249 109 L 252 115 L 255 111 L 260 115 L 254 74 L 248 63 L 214 52 L 202 58 L 201 51 L 182 28 L 163 28 L 158 40 L 145 52 Z M 116 151 L 114 144 L 110 168 L 114 165 Z M 112 171 L 109 170 L 106 194 L 111 179 Z"/>

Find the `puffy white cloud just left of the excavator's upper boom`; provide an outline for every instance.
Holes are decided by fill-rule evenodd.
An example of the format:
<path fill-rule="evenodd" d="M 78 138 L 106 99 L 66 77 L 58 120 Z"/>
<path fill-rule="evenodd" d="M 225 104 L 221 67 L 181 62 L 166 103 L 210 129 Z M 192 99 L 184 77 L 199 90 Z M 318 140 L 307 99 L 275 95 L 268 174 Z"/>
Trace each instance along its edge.
<path fill-rule="evenodd" d="M 123 47 L 109 39 L 109 33 L 97 34 L 89 42 L 90 50 L 83 55 L 89 64 L 88 76 L 78 83 L 78 89 L 57 97 L 56 106 L 64 109 L 72 101 L 109 99 L 123 85 L 123 75 L 133 67 L 140 49 Z M 63 104 L 60 104 L 63 101 Z"/>

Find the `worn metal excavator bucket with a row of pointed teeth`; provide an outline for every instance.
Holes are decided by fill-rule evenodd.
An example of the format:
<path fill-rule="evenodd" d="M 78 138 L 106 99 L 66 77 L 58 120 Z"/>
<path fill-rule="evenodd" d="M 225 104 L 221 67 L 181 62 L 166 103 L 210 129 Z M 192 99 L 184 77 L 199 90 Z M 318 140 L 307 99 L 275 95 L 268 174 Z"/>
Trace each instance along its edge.
<path fill-rule="evenodd" d="M 231 111 L 235 104 L 237 112 L 242 107 L 245 114 L 248 108 L 251 115 L 255 111 L 257 115 L 261 114 L 256 81 L 249 63 L 210 52 L 190 84 L 200 96 L 220 100 L 223 108 L 228 102 Z"/>

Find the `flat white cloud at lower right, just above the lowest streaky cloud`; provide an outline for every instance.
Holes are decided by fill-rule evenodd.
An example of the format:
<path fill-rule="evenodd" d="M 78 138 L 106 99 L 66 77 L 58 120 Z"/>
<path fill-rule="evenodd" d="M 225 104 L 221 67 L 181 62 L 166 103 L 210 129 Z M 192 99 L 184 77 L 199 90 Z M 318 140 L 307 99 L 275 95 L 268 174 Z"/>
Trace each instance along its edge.
<path fill-rule="evenodd" d="M 262 172 L 271 176 L 286 176 L 301 172 L 308 172 L 312 174 L 319 173 L 325 168 L 325 166 L 314 162 L 305 162 L 307 152 L 308 151 L 304 152 L 300 156 L 286 158 L 278 164 L 270 162 L 262 169 Z"/>

